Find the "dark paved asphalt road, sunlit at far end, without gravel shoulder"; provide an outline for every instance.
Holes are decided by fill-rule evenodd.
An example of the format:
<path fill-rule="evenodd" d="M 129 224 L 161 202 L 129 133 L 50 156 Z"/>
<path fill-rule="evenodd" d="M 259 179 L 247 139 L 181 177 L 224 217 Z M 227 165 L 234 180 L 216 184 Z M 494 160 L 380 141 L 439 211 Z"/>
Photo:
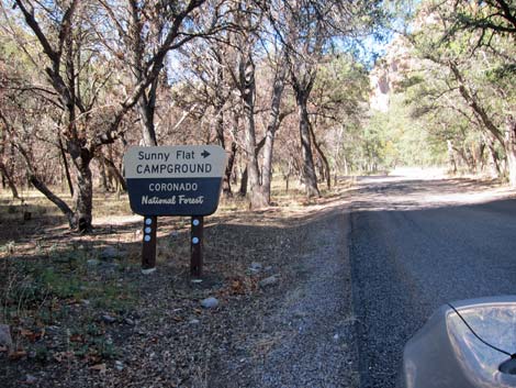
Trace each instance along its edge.
<path fill-rule="evenodd" d="M 516 200 L 468 180 L 362 179 L 349 253 L 360 387 L 395 386 L 439 306 L 516 293 Z"/>

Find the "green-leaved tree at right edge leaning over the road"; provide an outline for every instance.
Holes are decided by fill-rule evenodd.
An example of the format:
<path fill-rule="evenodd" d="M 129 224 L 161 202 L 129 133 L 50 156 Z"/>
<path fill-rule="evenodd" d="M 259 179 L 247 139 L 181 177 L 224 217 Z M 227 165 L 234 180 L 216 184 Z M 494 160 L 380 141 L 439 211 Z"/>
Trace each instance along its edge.
<path fill-rule="evenodd" d="M 456 24 L 449 23 L 453 4 L 425 4 L 420 14 L 431 15 L 427 18 L 431 22 L 420 24 L 415 30 L 411 36 L 412 43 L 426 67 L 437 68 L 444 78 L 438 99 L 456 96 L 462 100 L 473 118 L 472 122 L 479 124 L 475 126 L 486 138 L 500 143 L 507 157 L 509 182 L 515 187 L 516 133 L 512 124 L 516 98 L 514 36 L 496 33 L 485 42 L 485 31 L 482 29 L 455 31 Z M 452 97 L 451 101 L 451 106 L 457 106 Z M 492 151 L 491 157 L 495 163 Z"/>

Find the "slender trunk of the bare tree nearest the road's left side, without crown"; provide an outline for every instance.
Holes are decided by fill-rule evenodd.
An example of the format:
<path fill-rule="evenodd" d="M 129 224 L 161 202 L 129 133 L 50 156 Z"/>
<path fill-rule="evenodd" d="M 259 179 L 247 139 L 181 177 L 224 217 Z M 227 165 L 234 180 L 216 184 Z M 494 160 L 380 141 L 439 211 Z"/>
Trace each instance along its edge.
<path fill-rule="evenodd" d="M 300 137 L 301 149 L 303 157 L 302 178 L 306 189 L 306 196 L 321 197 L 317 188 L 317 176 L 315 174 L 314 157 L 312 154 L 312 142 L 310 138 L 310 118 L 307 109 L 309 93 L 301 89 L 295 88 L 295 100 L 298 103 L 298 115 L 300 120 Z"/>

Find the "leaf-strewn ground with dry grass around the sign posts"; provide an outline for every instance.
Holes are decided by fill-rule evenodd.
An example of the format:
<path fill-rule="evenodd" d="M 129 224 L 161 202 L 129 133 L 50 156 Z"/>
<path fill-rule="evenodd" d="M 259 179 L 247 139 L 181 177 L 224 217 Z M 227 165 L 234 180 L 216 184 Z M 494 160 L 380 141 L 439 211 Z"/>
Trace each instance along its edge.
<path fill-rule="evenodd" d="M 131 212 L 127 196 L 97 192 L 94 231 L 80 235 L 68 230 L 66 220 L 40 193 L 23 192 L 22 206 L 2 192 L 0 273 L 8 281 L 0 286 L 0 322 L 11 325 L 18 353 L 8 362 L 0 352 L 5 376 L 0 385 L 16 386 L 24 373 L 41 373 L 53 376 L 43 386 L 59 379 L 91 386 L 92 374 L 99 378 L 92 366 L 100 370 L 108 366 L 111 373 L 102 378 L 109 385 L 116 378 L 115 359 L 138 365 L 134 373 L 124 370 L 125 378 L 138 385 L 145 381 L 137 376 L 139 365 L 156 362 L 149 354 L 169 354 L 173 348 L 165 357 L 171 367 L 164 386 L 206 386 L 216 350 L 225 341 L 221 328 L 238 332 L 260 324 L 253 321 L 262 302 L 259 278 L 248 270 L 250 263 L 270 264 L 274 270 L 289 265 L 301 246 L 296 240 L 306 230 L 300 225 L 309 222 L 311 213 L 337 203 L 349 182 L 323 189 L 323 198 L 310 201 L 301 190 L 287 192 L 282 182 L 274 182 L 276 203 L 256 212 L 238 196 L 223 199 L 217 212 L 205 219 L 204 281 L 197 286 L 189 278 L 189 218 L 159 218 L 158 271 L 148 281 L 139 273 L 142 217 Z M 30 211 L 32 219 L 23 221 L 23 211 Z M 16 228 L 7 228 L 12 223 Z M 104 259 L 106 247 L 117 250 L 120 257 Z M 217 313 L 200 310 L 199 300 L 210 295 L 226 307 Z M 105 323 L 102 314 L 115 322 Z M 203 323 L 200 337 L 188 323 L 192 318 Z M 126 319 L 139 329 L 124 323 Z M 48 328 L 56 328 L 56 334 L 49 334 Z M 263 353 L 271 345 L 273 341 L 257 343 Z"/>

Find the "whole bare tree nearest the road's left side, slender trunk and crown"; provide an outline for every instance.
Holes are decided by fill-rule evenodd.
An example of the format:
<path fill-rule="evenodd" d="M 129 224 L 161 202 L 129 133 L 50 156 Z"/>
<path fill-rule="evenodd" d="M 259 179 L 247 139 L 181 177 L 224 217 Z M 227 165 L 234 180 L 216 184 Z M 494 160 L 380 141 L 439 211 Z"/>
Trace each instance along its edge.
<path fill-rule="evenodd" d="M 336 46 L 350 47 L 355 37 L 383 22 L 379 1 L 272 1 L 263 5 L 287 54 L 289 78 L 298 107 L 303 182 L 309 197 L 319 196 L 315 173 L 309 99 L 321 60 Z"/>

